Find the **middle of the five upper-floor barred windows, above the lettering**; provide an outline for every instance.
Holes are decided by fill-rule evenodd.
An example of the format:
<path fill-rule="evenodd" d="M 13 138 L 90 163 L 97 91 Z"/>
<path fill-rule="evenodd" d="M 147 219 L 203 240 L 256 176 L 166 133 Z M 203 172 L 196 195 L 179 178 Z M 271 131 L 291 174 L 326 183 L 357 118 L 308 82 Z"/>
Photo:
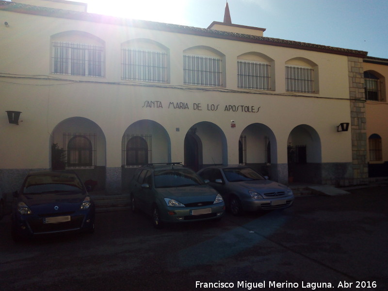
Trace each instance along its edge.
<path fill-rule="evenodd" d="M 183 83 L 222 86 L 222 60 L 203 56 L 183 56 Z"/>

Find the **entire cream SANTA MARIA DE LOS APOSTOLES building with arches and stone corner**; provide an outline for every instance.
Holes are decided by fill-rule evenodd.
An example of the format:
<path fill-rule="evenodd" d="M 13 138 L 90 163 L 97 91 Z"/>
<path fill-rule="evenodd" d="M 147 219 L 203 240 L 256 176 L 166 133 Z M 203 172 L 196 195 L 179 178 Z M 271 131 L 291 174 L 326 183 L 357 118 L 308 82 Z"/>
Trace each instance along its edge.
<path fill-rule="evenodd" d="M 125 192 L 159 162 L 246 164 L 282 183 L 368 178 L 366 52 L 24 2 L 0 1 L 3 192 L 62 168 Z"/>

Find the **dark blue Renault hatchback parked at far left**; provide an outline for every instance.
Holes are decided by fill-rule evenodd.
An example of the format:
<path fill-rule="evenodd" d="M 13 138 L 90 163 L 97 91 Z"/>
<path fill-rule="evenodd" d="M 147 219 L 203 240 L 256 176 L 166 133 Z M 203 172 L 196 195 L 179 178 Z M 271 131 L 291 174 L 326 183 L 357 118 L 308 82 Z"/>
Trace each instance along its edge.
<path fill-rule="evenodd" d="M 11 229 L 16 242 L 43 234 L 94 231 L 94 203 L 72 171 L 32 172 L 14 195 Z"/>

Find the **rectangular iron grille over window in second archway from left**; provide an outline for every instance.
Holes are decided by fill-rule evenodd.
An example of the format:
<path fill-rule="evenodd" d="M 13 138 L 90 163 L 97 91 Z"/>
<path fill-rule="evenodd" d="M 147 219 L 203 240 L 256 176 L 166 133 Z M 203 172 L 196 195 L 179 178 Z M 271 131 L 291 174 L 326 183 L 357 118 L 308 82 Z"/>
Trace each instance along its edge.
<path fill-rule="evenodd" d="M 122 142 L 122 165 L 139 167 L 152 162 L 152 135 L 125 134 Z"/>

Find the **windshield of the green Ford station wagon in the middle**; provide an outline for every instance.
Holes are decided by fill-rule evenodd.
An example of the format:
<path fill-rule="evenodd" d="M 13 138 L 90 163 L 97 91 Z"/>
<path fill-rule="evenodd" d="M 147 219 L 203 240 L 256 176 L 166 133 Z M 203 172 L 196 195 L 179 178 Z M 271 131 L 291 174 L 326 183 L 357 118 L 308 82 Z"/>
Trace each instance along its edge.
<path fill-rule="evenodd" d="M 155 188 L 204 185 L 204 181 L 189 169 L 168 169 L 154 172 Z"/>

